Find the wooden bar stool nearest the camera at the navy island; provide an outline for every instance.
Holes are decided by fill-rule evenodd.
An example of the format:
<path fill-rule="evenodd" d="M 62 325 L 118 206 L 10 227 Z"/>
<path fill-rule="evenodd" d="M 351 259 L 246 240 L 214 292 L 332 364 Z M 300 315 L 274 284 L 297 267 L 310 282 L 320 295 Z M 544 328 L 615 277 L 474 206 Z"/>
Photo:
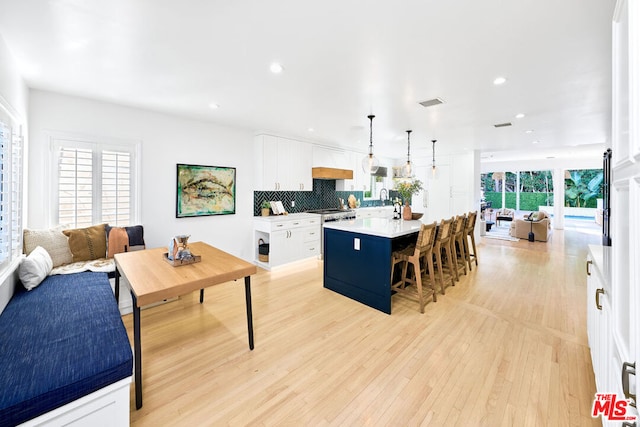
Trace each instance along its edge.
<path fill-rule="evenodd" d="M 426 304 L 423 288 L 424 279 L 427 279 L 429 282 L 426 296 L 431 294 L 433 302 L 437 301 L 433 269 L 433 243 L 435 237 L 435 221 L 433 224 L 422 224 L 415 245 L 393 252 L 391 255 L 391 290 L 399 294 L 417 295 L 420 304 L 420 313 L 424 313 L 424 306 Z M 402 264 L 402 275 L 400 280 L 394 283 L 393 273 L 398 264 Z M 409 272 L 409 264 L 411 264 L 412 267 L 411 272 Z"/>

